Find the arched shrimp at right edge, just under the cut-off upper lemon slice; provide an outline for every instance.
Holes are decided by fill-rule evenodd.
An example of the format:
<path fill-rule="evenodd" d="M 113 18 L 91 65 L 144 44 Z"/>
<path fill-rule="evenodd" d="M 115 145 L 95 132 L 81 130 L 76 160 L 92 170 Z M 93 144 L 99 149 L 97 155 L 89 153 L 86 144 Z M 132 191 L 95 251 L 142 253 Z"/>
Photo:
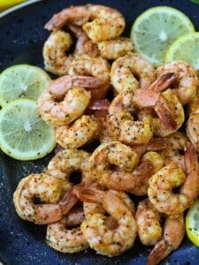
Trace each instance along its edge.
<path fill-rule="evenodd" d="M 196 93 L 198 78 L 195 69 L 186 62 L 172 61 L 157 67 L 157 77 L 165 72 L 177 74 L 177 80 L 173 84 L 173 92 L 184 105 L 190 102 Z"/>

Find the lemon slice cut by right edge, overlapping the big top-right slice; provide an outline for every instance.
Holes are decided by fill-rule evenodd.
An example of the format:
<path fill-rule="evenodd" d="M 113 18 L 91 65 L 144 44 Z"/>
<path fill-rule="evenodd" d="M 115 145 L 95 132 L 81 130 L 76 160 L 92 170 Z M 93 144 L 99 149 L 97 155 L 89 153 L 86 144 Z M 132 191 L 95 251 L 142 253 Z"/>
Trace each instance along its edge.
<path fill-rule="evenodd" d="M 199 72 L 199 32 L 185 34 L 172 43 L 165 54 L 165 61 L 182 60 Z"/>

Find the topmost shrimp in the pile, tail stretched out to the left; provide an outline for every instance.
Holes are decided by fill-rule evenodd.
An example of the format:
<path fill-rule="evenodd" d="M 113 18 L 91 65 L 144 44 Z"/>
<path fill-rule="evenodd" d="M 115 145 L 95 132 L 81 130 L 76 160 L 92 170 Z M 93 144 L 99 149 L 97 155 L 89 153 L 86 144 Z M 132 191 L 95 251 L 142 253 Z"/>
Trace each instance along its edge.
<path fill-rule="evenodd" d="M 99 4 L 86 4 L 65 8 L 55 14 L 45 28 L 57 30 L 68 23 L 82 26 L 93 42 L 115 39 L 126 27 L 125 18 L 118 10 Z"/>

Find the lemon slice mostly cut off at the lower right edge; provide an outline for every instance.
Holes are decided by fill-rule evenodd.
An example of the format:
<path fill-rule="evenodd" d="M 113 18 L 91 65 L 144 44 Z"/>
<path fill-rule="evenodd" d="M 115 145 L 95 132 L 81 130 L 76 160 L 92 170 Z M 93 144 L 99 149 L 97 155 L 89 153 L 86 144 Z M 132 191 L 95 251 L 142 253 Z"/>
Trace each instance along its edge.
<path fill-rule="evenodd" d="M 188 239 L 190 239 L 195 246 L 199 246 L 199 199 L 188 209 L 185 224 Z"/>

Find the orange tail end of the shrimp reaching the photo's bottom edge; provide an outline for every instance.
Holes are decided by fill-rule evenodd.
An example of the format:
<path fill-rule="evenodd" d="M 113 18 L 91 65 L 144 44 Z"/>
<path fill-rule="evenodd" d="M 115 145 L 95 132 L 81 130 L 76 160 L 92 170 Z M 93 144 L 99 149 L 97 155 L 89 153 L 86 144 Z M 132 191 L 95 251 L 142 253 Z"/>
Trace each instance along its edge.
<path fill-rule="evenodd" d="M 148 257 L 148 265 L 155 265 L 177 249 L 185 235 L 183 213 L 167 216 L 163 238 L 157 242 Z"/>

